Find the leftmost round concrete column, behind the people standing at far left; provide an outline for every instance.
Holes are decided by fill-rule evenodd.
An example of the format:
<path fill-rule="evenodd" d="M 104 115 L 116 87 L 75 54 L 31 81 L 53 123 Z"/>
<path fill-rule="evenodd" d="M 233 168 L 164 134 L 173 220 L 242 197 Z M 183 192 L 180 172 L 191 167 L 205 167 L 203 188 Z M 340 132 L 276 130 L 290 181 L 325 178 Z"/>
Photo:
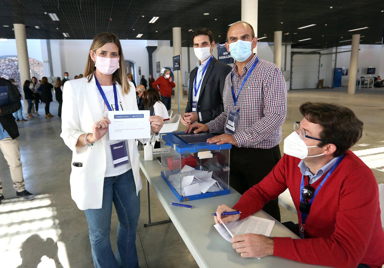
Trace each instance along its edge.
<path fill-rule="evenodd" d="M 25 80 L 31 80 L 28 48 L 26 46 L 25 25 L 13 24 L 13 29 L 15 30 L 17 59 L 19 62 L 20 87 L 23 87 Z M 24 96 L 24 92 L 23 92 L 23 96 Z M 28 103 L 26 102 L 25 99 L 23 100 L 23 103 L 24 103 L 24 113 L 27 113 Z"/>

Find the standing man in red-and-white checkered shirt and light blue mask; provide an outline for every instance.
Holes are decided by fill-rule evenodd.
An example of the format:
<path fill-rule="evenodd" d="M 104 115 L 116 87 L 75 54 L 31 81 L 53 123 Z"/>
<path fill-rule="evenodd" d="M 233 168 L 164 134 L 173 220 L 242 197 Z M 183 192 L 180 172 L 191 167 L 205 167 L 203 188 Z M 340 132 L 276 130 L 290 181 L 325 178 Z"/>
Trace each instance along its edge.
<path fill-rule="evenodd" d="M 275 64 L 258 59 L 252 53 L 257 38 L 249 23 L 241 21 L 230 26 L 227 40 L 225 46 L 235 59 L 235 65 L 225 80 L 224 112 L 207 124 L 190 125 L 185 132 L 224 133 L 207 142 L 217 145 L 232 143 L 230 186 L 243 194 L 270 173 L 281 158 L 279 143 L 281 125 L 286 117 L 287 87 L 283 74 Z M 249 77 L 240 90 L 250 69 Z M 234 133 L 231 133 L 228 130 L 231 127 L 227 125 L 228 116 L 237 109 L 238 122 Z M 263 210 L 280 221 L 278 199 L 265 204 Z"/>

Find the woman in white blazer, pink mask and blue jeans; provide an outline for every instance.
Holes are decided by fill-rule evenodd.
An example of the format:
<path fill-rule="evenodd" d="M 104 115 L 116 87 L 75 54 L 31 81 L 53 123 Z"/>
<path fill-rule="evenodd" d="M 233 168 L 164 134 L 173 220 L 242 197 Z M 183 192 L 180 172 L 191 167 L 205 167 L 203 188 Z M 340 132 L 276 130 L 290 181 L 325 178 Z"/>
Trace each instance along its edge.
<path fill-rule="evenodd" d="M 139 154 L 135 140 L 109 140 L 109 110 L 138 109 L 120 41 L 114 34 L 101 33 L 93 39 L 84 78 L 64 85 L 60 136 L 73 151 L 71 196 L 87 218 L 94 266 L 138 267 Z M 158 133 L 163 118 L 151 116 L 149 121 L 151 132 Z M 128 157 L 116 161 L 112 148 L 117 147 Z M 112 203 L 119 219 L 116 257 L 109 240 Z"/>

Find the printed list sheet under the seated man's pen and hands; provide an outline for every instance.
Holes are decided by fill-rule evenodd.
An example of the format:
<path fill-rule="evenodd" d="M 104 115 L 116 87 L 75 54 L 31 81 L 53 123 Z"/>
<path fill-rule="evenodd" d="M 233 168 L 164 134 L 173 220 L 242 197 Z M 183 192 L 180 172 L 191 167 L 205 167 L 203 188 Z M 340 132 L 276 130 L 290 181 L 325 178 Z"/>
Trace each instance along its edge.
<path fill-rule="evenodd" d="M 214 227 L 225 240 L 231 242 L 232 237 L 237 235 L 244 235 L 246 233 L 256 233 L 269 237 L 272 232 L 273 225 L 275 225 L 274 220 L 249 216 L 238 222 L 215 224 Z"/>

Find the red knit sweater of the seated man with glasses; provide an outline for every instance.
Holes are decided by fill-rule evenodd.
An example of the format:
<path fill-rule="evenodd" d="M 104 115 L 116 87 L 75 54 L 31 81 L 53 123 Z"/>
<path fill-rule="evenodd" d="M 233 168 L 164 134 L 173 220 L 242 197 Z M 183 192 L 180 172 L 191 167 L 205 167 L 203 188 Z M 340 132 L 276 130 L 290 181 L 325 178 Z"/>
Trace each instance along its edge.
<path fill-rule="evenodd" d="M 262 209 L 288 187 L 300 226 L 299 162 L 298 158 L 284 155 L 260 183 L 245 192 L 233 206 L 242 212 L 241 219 Z M 322 178 L 313 184 L 314 188 Z M 371 169 L 351 151 L 345 154 L 314 199 L 305 222 L 305 238 L 274 237 L 273 255 L 333 267 L 384 264 L 377 181 Z"/>

